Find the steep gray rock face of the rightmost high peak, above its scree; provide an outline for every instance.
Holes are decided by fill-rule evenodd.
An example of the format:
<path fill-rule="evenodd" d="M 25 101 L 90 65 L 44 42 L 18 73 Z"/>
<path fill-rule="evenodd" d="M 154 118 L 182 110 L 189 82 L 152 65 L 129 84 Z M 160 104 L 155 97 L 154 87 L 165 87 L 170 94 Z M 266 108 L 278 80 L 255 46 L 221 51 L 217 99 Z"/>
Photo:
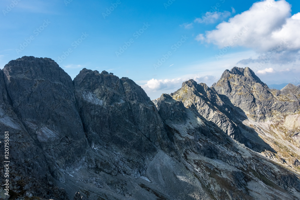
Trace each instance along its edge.
<path fill-rule="evenodd" d="M 285 98 L 277 90 L 270 90 L 249 67 L 226 70 L 213 88 L 255 121 L 269 120 L 299 110 L 298 98 Z"/>

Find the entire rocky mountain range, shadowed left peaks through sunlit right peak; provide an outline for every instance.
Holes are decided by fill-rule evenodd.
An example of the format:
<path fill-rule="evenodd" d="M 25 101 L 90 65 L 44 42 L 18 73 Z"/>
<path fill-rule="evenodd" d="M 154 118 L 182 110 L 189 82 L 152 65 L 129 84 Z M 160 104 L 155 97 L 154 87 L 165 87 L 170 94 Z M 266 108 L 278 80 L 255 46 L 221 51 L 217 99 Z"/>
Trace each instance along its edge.
<path fill-rule="evenodd" d="M 151 101 L 129 78 L 82 69 L 72 81 L 24 56 L 0 85 L 10 199 L 300 199 L 299 91 L 249 68 Z"/>

